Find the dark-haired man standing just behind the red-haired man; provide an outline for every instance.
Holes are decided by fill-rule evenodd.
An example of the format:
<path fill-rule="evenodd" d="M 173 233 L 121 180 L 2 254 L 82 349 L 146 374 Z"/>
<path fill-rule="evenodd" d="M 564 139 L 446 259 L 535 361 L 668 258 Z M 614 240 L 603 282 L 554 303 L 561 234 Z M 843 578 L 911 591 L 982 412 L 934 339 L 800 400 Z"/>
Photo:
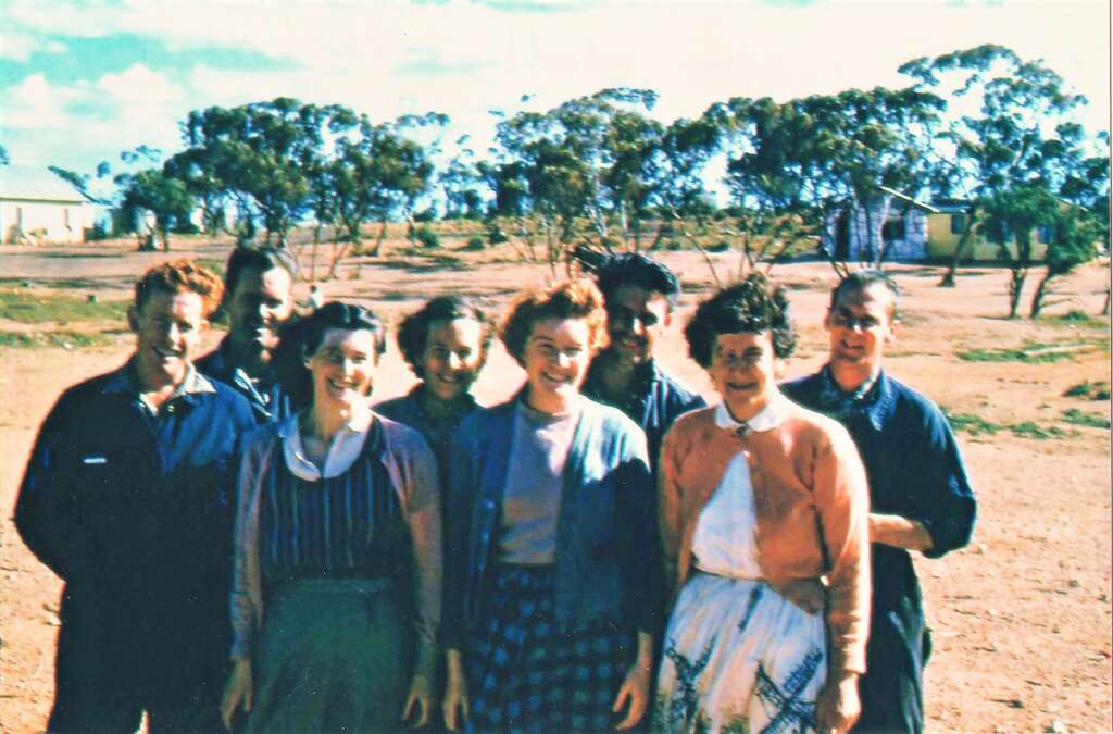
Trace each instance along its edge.
<path fill-rule="evenodd" d="M 256 421 L 280 421 L 290 414 L 272 359 L 278 331 L 294 313 L 294 263 L 273 247 L 236 247 L 225 271 L 223 309 L 228 335 L 197 369 L 235 388 L 252 405 Z"/>

